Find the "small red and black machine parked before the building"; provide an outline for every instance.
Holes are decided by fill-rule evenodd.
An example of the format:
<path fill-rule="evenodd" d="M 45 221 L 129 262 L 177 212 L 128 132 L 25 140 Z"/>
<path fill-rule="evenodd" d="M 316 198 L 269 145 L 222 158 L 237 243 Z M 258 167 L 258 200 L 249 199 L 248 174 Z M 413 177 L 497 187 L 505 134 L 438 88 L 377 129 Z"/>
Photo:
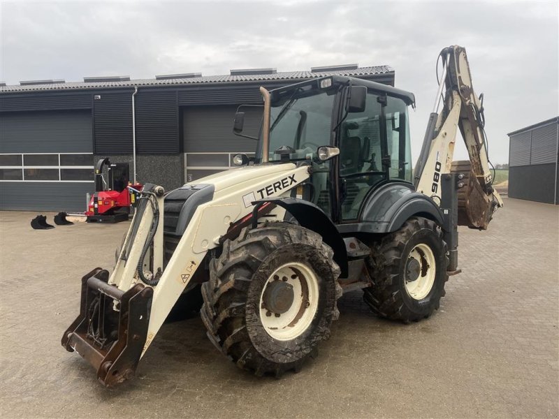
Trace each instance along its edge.
<path fill-rule="evenodd" d="M 107 166 L 108 182 L 103 178 L 103 166 Z M 118 223 L 126 221 L 130 207 L 136 203 L 137 192 L 142 184 L 129 182 L 128 163 L 110 163 L 108 157 L 101 159 L 95 166 L 95 193 L 89 200 L 87 222 Z M 131 187 L 131 189 L 128 188 Z"/>

